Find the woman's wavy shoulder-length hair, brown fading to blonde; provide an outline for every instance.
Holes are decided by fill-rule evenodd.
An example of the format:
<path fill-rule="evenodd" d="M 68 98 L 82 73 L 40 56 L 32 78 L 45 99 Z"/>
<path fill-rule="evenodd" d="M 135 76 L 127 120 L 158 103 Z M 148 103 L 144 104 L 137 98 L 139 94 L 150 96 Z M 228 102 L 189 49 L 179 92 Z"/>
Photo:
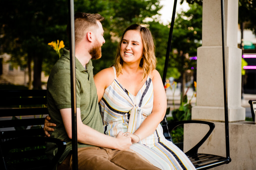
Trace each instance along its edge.
<path fill-rule="evenodd" d="M 140 66 L 143 69 L 143 79 L 144 79 L 146 75 L 149 75 L 151 71 L 156 68 L 155 45 L 154 45 L 153 36 L 150 30 L 138 24 L 132 24 L 131 26 L 126 28 L 126 30 L 122 35 L 122 38 L 119 42 L 119 45 L 116 51 L 116 56 L 115 56 L 114 66 L 116 69 L 116 75 L 119 76 L 120 73 L 123 73 L 122 71 L 123 59 L 121 58 L 120 48 L 121 48 L 121 43 L 122 43 L 124 34 L 129 30 L 137 30 L 137 31 L 140 31 L 141 33 L 142 44 L 143 44 L 143 55 L 140 61 Z"/>

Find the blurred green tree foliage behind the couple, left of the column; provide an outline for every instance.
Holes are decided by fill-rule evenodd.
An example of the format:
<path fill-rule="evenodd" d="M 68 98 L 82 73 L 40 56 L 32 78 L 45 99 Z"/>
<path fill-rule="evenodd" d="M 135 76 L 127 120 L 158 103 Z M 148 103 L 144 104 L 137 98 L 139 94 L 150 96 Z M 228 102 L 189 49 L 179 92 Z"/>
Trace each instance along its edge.
<path fill-rule="evenodd" d="M 55 51 L 47 44 L 63 40 L 65 47 L 69 47 L 66 36 L 67 6 L 67 0 L 0 1 L 0 53 L 12 54 L 10 62 L 14 66 L 24 67 L 33 60 L 34 82 L 40 78 L 40 70 L 48 75 L 58 60 Z M 162 75 L 169 28 L 159 23 L 158 11 L 161 7 L 159 0 L 74 0 L 75 12 L 99 13 L 105 17 L 102 25 L 106 42 L 102 46 L 102 58 L 93 60 L 94 74 L 113 64 L 120 36 L 129 25 L 137 23 L 148 27 L 155 37 L 157 70 Z M 180 70 L 194 66 L 187 58 L 184 62 L 179 53 L 196 54 L 201 40 L 201 12 L 201 7 L 196 4 L 191 5 L 188 12 L 177 16 L 167 77 L 178 79 Z M 188 27 L 193 27 L 197 34 Z M 173 53 L 175 49 L 178 53 Z"/>

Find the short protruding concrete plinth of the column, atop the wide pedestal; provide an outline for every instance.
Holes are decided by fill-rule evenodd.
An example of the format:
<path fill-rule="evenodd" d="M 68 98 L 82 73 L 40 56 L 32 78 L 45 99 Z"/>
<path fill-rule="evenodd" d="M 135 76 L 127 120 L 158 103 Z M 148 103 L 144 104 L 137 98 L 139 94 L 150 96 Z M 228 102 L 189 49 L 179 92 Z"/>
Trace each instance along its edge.
<path fill-rule="evenodd" d="M 229 107 L 228 108 L 229 122 L 244 121 L 245 108 L 243 107 Z M 224 107 L 212 106 L 194 106 L 192 108 L 192 120 L 205 120 L 205 121 L 223 121 Z"/>

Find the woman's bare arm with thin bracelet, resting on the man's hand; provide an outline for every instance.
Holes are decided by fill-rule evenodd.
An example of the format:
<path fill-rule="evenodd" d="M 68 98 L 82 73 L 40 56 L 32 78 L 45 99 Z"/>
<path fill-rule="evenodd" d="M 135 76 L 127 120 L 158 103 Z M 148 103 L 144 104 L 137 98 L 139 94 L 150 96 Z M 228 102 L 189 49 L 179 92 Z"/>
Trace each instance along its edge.
<path fill-rule="evenodd" d="M 167 100 L 161 76 L 157 70 L 152 71 L 152 75 L 154 93 L 153 110 L 152 113 L 142 122 L 140 127 L 134 132 L 134 134 L 139 136 L 140 140 L 154 133 L 158 124 L 164 119 L 164 115 L 166 113 Z M 133 143 L 138 142 L 139 140 L 136 135 L 129 133 Z"/>

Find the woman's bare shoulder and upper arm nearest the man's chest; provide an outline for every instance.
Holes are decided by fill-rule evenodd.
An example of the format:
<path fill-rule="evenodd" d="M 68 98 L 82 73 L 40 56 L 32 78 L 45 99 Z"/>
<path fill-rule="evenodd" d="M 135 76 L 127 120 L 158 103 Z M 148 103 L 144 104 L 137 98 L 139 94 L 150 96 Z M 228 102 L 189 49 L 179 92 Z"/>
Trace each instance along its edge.
<path fill-rule="evenodd" d="M 94 75 L 94 82 L 97 88 L 98 102 L 102 99 L 105 89 L 114 81 L 114 70 L 106 68 Z"/>

